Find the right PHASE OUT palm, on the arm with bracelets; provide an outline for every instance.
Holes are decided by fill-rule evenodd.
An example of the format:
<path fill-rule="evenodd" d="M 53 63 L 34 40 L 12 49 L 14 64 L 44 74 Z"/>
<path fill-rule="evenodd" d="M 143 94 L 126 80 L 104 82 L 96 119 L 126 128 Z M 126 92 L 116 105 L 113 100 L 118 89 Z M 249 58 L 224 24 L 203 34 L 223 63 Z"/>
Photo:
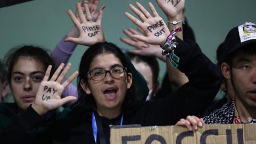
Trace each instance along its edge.
<path fill-rule="evenodd" d="M 137 2 L 136 5 L 139 7 L 140 11 L 132 4 L 130 4 L 129 7 L 138 15 L 142 22 L 128 12 L 125 12 L 125 15 L 135 23 L 135 25 L 141 28 L 146 36 L 134 34 L 132 37 L 148 44 L 163 45 L 167 36 L 170 34 L 164 20 L 159 17 L 152 3 L 149 2 L 149 7 L 154 17 L 152 17 L 140 3 Z"/>

